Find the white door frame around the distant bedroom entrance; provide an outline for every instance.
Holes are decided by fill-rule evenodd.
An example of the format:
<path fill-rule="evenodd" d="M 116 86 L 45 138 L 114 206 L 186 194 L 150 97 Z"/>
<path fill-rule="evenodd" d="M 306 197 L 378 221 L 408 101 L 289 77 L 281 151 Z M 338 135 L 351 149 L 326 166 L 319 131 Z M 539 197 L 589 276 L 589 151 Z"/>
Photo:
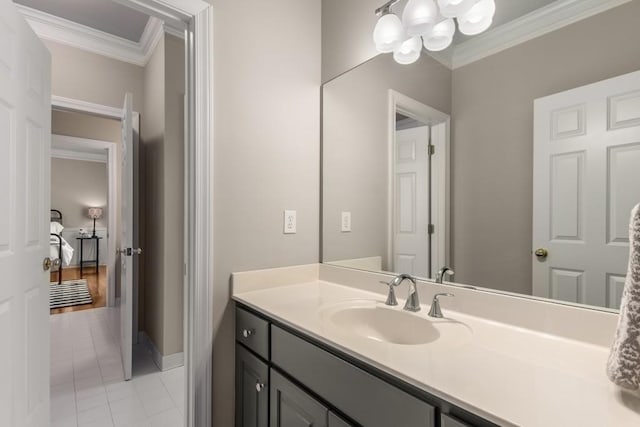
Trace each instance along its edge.
<path fill-rule="evenodd" d="M 52 102 L 53 105 L 53 102 Z M 77 145 L 92 150 L 106 150 L 106 163 L 107 163 L 107 216 L 109 218 L 107 223 L 107 306 L 113 307 L 115 305 L 115 231 L 117 229 L 117 210 L 116 210 L 116 186 L 118 184 L 118 155 L 117 146 L 110 141 L 101 141 L 96 139 L 78 138 L 66 135 L 51 135 L 51 157 L 58 159 L 75 159 L 75 160 L 87 160 L 94 162 L 104 162 L 102 159 L 95 159 L 82 150 L 76 150 L 74 148 L 59 149 L 55 148 L 56 141 L 62 144 L 69 144 L 70 146 Z"/>

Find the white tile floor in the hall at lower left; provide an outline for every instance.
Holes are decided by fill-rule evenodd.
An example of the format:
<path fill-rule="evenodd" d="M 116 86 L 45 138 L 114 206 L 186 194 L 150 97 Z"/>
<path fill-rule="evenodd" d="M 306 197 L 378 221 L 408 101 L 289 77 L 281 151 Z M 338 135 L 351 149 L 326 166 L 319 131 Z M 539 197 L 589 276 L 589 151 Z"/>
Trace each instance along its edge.
<path fill-rule="evenodd" d="M 133 379 L 124 381 L 110 308 L 50 316 L 52 427 L 181 427 L 184 368 L 160 372 L 134 346 Z"/>

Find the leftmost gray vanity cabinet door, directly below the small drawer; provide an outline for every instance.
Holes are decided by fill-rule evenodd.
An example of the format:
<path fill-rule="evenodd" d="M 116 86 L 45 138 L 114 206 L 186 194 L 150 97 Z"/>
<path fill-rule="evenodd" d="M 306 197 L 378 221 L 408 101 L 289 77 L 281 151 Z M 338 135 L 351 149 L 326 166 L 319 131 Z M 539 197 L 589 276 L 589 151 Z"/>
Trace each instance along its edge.
<path fill-rule="evenodd" d="M 269 426 L 269 367 L 236 344 L 236 426 Z"/>

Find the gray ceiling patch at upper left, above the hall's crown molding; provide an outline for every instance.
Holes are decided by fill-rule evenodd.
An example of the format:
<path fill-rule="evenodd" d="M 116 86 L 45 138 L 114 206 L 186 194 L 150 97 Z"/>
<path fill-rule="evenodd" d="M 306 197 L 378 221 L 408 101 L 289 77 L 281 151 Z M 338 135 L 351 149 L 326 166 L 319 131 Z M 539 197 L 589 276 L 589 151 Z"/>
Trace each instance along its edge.
<path fill-rule="evenodd" d="M 149 16 L 113 0 L 14 0 L 15 3 L 139 42 Z"/>

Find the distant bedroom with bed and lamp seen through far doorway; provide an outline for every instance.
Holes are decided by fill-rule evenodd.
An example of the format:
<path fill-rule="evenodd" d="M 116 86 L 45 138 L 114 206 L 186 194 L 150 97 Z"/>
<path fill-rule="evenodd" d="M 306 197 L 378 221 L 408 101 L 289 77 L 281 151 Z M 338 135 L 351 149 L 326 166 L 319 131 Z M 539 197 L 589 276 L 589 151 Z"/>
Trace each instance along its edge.
<path fill-rule="evenodd" d="M 111 273 L 109 248 L 117 236 L 117 204 L 110 156 L 120 121 L 52 109 L 50 313 L 105 307 Z M 115 162 L 116 159 L 111 159 Z M 115 196 L 115 197 L 114 197 Z M 116 227 L 114 227 L 116 225 Z M 111 227 L 110 227 L 111 226 Z"/>

